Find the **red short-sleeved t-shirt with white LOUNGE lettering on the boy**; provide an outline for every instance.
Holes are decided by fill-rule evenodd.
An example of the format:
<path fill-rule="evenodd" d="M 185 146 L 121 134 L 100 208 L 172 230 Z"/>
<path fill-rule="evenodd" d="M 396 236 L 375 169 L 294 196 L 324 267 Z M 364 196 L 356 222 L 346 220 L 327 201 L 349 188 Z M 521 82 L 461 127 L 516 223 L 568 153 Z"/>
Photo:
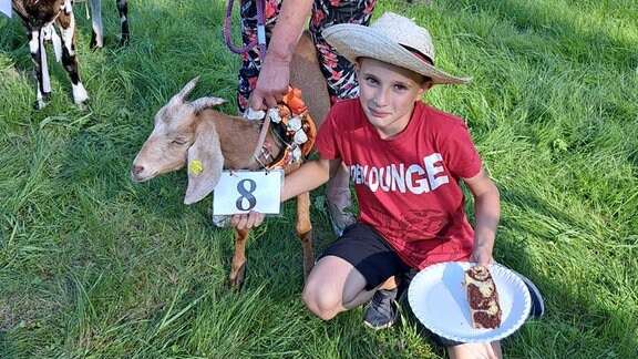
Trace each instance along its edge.
<path fill-rule="evenodd" d="M 409 266 L 470 258 L 474 229 L 459 181 L 477 175 L 482 161 L 461 119 L 416 102 L 405 130 L 382 140 L 359 99 L 346 100 L 328 113 L 316 146 L 349 166 L 359 222 L 375 228 Z"/>

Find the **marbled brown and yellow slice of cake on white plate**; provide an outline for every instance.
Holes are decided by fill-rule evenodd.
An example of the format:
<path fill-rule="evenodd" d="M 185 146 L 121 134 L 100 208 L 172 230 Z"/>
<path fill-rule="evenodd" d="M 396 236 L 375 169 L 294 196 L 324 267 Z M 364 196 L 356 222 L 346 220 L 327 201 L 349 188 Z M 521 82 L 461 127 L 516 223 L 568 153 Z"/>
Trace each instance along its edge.
<path fill-rule="evenodd" d="M 490 270 L 478 265 L 465 270 L 463 285 L 465 286 L 470 312 L 472 314 L 472 326 L 477 329 L 498 328 L 503 311 L 498 304 L 498 293 Z"/>

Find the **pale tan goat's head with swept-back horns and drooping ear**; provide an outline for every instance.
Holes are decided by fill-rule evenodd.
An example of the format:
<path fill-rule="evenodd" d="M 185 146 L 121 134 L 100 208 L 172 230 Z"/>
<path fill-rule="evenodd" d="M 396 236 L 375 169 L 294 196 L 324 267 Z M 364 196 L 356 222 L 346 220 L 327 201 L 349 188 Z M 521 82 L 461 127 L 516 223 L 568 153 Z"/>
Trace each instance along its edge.
<path fill-rule="evenodd" d="M 226 100 L 202 98 L 186 102 L 199 78 L 188 82 L 179 93 L 155 114 L 153 132 L 131 167 L 134 182 L 179 170 L 188 163 L 188 187 L 185 204 L 206 197 L 217 185 L 224 166 L 219 135 L 212 122 L 200 121 L 207 107 Z"/>

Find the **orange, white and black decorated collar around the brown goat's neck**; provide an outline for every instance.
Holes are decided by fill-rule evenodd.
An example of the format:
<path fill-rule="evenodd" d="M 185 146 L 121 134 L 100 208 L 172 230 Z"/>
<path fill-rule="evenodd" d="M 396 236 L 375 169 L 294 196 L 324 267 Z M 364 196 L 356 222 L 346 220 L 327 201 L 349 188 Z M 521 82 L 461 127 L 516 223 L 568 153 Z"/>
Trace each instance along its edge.
<path fill-rule="evenodd" d="M 308 113 L 306 103 L 301 100 L 301 90 L 290 86 L 277 107 L 269 109 L 267 113 L 248 109 L 245 116 L 249 120 L 264 119 L 259 143 L 253 154 L 254 161 L 259 163 L 263 168 L 286 168 L 294 163 L 303 161 L 312 151 L 317 137 L 317 126 Z M 279 131 L 274 127 L 279 127 Z M 260 160 L 260 157 L 272 157 L 270 145 L 265 143 L 266 131 L 272 131 L 282 144 L 282 151 L 269 164 Z"/>

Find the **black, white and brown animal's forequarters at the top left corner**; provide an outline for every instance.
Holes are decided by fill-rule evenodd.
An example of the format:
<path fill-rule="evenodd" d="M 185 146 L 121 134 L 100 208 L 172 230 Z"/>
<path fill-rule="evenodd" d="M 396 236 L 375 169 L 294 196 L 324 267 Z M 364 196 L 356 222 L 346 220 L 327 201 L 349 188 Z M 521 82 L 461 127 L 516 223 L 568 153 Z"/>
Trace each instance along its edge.
<path fill-rule="evenodd" d="M 38 78 L 38 103 L 42 109 L 45 101 L 51 96 L 51 84 L 49 81 L 49 68 L 47 65 L 47 52 L 44 49 L 45 37 L 52 35 L 54 44 L 59 44 L 56 50 L 61 52 L 62 64 L 71 78 L 73 90 L 73 101 L 79 106 L 83 106 L 89 99 L 89 94 L 80 80 L 78 72 L 78 57 L 75 55 L 75 18 L 71 0 L 12 0 L 13 11 L 22 19 L 29 39 L 29 50 L 31 60 L 35 68 Z M 59 41 L 52 25 L 60 30 Z M 56 41 L 58 40 L 58 41 Z"/>

